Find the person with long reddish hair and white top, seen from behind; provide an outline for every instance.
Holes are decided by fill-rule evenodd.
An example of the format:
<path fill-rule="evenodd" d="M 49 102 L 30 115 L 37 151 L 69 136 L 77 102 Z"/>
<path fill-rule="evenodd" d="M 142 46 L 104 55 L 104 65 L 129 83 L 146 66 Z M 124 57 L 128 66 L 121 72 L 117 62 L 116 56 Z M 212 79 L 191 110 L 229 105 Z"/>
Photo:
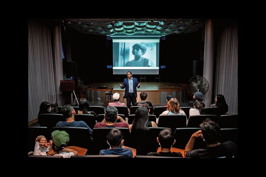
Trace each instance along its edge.
<path fill-rule="evenodd" d="M 168 102 L 168 107 L 166 111 L 162 112 L 162 115 L 186 115 L 186 113 L 179 108 L 179 102 L 176 98 L 171 98 Z M 160 117 L 159 117 L 160 118 Z M 156 119 L 156 123 L 158 124 L 159 118 Z M 187 118 L 186 118 L 186 125 L 187 125 Z"/>

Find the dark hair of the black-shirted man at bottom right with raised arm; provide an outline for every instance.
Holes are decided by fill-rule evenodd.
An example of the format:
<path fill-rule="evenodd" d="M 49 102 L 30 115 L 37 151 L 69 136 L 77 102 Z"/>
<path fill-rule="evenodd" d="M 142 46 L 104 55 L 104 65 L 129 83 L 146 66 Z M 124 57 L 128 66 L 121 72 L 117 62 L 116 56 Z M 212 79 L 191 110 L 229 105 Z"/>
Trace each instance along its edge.
<path fill-rule="evenodd" d="M 205 119 L 201 124 L 201 133 L 208 144 L 215 144 L 221 135 L 221 129 L 217 123 L 211 119 Z"/>

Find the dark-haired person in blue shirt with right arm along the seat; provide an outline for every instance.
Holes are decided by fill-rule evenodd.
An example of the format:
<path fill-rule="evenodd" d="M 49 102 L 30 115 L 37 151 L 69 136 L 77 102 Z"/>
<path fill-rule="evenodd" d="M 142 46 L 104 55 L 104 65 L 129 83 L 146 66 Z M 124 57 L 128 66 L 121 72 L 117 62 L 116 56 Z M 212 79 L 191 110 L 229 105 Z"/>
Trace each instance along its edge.
<path fill-rule="evenodd" d="M 84 127 L 88 128 L 90 134 L 92 129 L 84 121 L 75 121 L 76 111 L 70 105 L 65 105 L 61 108 L 61 112 L 66 121 L 60 121 L 56 124 L 56 127 Z"/>

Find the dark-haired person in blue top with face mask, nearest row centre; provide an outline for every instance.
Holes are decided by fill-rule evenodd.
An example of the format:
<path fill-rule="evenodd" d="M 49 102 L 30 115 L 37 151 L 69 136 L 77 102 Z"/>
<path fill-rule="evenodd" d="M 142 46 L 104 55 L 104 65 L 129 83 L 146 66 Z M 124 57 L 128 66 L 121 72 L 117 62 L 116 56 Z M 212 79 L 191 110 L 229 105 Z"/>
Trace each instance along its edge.
<path fill-rule="evenodd" d="M 106 138 L 107 144 L 110 145 L 110 148 L 101 150 L 99 155 L 122 155 L 133 158 L 133 152 L 131 149 L 123 149 L 123 133 L 119 129 L 111 129 Z"/>

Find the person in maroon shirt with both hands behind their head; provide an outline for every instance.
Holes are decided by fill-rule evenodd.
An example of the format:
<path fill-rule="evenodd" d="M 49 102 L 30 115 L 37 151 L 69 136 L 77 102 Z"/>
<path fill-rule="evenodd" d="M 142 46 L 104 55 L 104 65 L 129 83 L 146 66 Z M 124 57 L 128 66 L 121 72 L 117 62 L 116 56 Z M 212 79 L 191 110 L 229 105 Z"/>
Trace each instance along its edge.
<path fill-rule="evenodd" d="M 104 120 L 95 124 L 94 128 L 102 127 L 123 127 L 128 128 L 128 123 L 117 115 L 118 111 L 114 106 L 109 106 L 105 110 Z M 116 122 L 119 120 L 120 122 Z"/>

